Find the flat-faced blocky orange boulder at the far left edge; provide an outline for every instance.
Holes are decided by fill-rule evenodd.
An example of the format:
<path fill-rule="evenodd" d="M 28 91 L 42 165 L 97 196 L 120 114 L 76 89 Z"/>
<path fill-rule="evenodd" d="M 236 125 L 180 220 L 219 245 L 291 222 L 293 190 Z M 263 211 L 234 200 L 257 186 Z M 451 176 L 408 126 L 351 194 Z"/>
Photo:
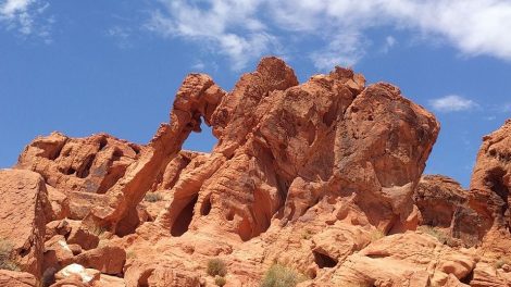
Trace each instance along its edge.
<path fill-rule="evenodd" d="M 0 195 L 3 252 L 10 251 L 22 271 L 40 276 L 45 211 L 50 210 L 45 180 L 30 171 L 0 170 Z"/>

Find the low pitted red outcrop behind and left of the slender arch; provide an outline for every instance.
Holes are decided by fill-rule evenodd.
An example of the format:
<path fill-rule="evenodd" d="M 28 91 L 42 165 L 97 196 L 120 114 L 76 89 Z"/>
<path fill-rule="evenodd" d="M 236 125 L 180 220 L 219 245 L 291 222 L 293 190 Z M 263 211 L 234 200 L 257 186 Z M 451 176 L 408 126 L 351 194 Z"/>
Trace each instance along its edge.
<path fill-rule="evenodd" d="M 68 138 L 53 133 L 30 142 L 16 167 L 41 174 L 48 185 L 64 192 L 104 194 L 123 177 L 140 149 L 105 134 Z"/>

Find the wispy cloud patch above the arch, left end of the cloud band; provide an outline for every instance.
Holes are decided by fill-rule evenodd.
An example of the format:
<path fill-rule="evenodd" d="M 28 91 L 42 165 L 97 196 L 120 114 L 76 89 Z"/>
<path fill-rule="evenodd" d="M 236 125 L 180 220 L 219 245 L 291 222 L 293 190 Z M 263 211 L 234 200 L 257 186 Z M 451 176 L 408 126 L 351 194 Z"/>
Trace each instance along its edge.
<path fill-rule="evenodd" d="M 210 51 L 229 57 L 234 70 L 277 45 L 275 36 L 254 16 L 260 1 L 204 1 L 208 8 L 191 1 L 161 2 L 165 10 L 152 13 L 147 23 L 150 30 L 209 46 Z"/>

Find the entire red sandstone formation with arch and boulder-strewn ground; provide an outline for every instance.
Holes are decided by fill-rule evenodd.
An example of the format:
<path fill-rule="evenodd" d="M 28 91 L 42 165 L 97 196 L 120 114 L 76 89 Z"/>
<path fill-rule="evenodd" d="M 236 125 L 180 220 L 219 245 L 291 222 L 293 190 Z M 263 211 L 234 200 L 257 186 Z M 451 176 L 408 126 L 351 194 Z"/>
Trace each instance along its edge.
<path fill-rule="evenodd" d="M 216 146 L 183 150 L 202 121 Z M 510 132 L 464 190 L 422 176 L 438 122 L 390 84 L 276 58 L 229 92 L 190 74 L 148 145 L 53 133 L 0 172 L 0 283 L 511 286 Z"/>

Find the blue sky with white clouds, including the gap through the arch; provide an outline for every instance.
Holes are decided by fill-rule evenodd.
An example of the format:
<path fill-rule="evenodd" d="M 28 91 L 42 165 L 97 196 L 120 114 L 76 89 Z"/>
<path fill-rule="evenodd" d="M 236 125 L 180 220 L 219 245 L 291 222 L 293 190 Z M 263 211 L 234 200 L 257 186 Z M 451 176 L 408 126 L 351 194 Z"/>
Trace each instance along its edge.
<path fill-rule="evenodd" d="M 441 123 L 426 173 L 468 186 L 511 117 L 510 30 L 506 0 L 0 0 L 0 167 L 52 130 L 147 142 L 187 73 L 228 90 L 275 54 L 301 82 L 338 64 L 399 86 Z"/>

